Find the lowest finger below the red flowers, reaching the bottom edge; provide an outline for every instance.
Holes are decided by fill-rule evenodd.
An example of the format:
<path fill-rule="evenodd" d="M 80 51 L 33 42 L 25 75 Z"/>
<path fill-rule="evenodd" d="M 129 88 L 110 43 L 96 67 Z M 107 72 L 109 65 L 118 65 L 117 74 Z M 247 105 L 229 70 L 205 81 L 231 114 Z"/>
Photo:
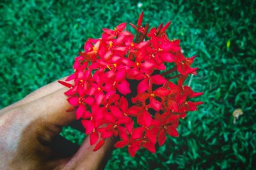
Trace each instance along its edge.
<path fill-rule="evenodd" d="M 93 152 L 95 145 L 90 145 L 90 138 L 84 140 L 78 152 L 67 162 L 67 169 L 104 169 L 113 151 L 114 140 L 108 138 L 104 146 Z"/>

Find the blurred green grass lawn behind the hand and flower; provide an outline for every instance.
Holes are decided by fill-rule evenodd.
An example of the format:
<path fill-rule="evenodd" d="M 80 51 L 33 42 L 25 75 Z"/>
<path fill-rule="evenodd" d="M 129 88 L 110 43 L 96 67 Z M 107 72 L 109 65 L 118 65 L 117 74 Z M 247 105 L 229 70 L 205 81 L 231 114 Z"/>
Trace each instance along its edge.
<path fill-rule="evenodd" d="M 205 92 L 198 111 L 180 120 L 179 138 L 152 154 L 113 152 L 106 169 L 256 168 L 255 1 L 0 1 L 0 108 L 72 73 L 87 38 L 102 27 L 136 23 L 156 27 L 172 20 L 168 35 L 187 57 L 198 55 L 191 87 Z M 131 27 L 127 28 L 131 31 Z M 232 113 L 244 112 L 233 123 Z M 65 127 L 63 136 L 84 135 Z"/>

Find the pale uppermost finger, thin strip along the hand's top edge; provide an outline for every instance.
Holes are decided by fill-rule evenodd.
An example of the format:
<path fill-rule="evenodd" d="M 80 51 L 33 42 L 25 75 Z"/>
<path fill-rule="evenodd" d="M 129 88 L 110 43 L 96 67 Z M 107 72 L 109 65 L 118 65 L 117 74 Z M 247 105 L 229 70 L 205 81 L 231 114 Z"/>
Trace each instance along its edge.
<path fill-rule="evenodd" d="M 64 81 L 67 77 L 61 78 L 60 80 Z M 55 92 L 56 90 L 60 90 L 63 88 L 63 85 L 58 83 L 58 80 L 49 83 L 48 85 L 45 85 L 44 87 L 41 87 L 40 89 L 36 90 L 35 92 L 31 92 L 28 96 L 24 97 L 24 99 L 17 101 L 16 103 L 13 103 L 10 106 L 7 106 L 6 108 L 3 108 L 0 110 L 0 114 L 4 113 L 7 110 L 11 110 L 15 107 L 18 107 L 22 104 L 29 103 L 31 101 L 35 101 L 36 99 L 39 99 L 40 97 L 47 96 L 48 94 L 51 94 L 52 92 Z"/>

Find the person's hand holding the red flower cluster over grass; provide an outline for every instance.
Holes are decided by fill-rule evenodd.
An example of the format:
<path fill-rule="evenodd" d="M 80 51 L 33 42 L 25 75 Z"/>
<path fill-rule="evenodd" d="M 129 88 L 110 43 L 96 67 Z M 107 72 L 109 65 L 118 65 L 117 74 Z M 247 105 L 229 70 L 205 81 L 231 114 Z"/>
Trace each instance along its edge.
<path fill-rule="evenodd" d="M 104 168 L 113 150 L 113 139 L 106 139 L 97 152 L 86 138 L 73 155 L 60 153 L 68 150 L 60 149 L 67 140 L 56 143 L 61 128 L 76 120 L 75 113 L 66 112 L 70 105 L 65 91 L 55 81 L 0 110 L 0 169 Z"/>

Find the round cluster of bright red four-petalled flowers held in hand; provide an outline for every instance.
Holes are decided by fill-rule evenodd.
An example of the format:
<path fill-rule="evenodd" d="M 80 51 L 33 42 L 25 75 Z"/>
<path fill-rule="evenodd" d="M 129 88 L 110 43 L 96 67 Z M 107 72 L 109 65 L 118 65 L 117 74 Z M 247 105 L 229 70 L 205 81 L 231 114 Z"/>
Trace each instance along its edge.
<path fill-rule="evenodd" d="M 182 85 L 195 74 L 197 68 L 191 67 L 195 57 L 185 58 L 179 39 L 168 39 L 170 22 L 148 32 L 148 24 L 141 26 L 142 18 L 143 13 L 136 25 L 131 24 L 135 38 L 122 23 L 114 30 L 103 29 L 99 39 L 88 39 L 75 59 L 74 74 L 66 80 L 74 85 L 60 81 L 70 88 L 65 92 L 68 103 L 82 119 L 91 145 L 97 143 L 95 151 L 106 138 L 119 136 L 115 147 L 128 146 L 132 157 L 141 147 L 154 153 L 166 134 L 179 136 L 179 118 L 202 104 L 187 101 L 202 93 Z M 168 62 L 173 67 L 166 71 Z M 174 78 L 177 84 L 170 81 Z"/>

